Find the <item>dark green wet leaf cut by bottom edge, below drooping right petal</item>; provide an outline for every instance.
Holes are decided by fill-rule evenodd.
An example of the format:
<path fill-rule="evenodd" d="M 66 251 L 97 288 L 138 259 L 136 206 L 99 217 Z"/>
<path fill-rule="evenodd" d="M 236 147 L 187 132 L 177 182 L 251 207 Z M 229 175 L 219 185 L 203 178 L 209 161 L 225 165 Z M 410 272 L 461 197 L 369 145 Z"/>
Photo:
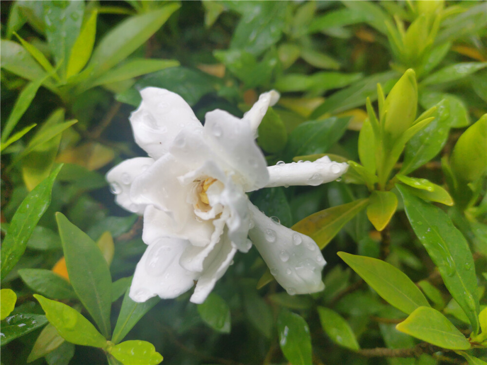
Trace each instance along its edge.
<path fill-rule="evenodd" d="M 296 313 L 281 310 L 277 319 L 279 345 L 292 365 L 309 365 L 311 361 L 311 336 L 306 321 Z"/>

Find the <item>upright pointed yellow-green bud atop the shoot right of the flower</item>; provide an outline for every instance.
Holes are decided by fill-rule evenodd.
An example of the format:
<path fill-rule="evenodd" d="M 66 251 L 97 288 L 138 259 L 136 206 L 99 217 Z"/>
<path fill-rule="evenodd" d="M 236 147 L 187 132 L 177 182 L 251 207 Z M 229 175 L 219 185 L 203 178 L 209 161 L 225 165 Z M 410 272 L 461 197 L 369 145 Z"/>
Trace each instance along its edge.
<path fill-rule="evenodd" d="M 418 87 L 416 75 L 412 69 L 407 70 L 384 102 L 385 138 L 392 144 L 408 128 L 412 126 L 416 117 L 418 104 Z"/>

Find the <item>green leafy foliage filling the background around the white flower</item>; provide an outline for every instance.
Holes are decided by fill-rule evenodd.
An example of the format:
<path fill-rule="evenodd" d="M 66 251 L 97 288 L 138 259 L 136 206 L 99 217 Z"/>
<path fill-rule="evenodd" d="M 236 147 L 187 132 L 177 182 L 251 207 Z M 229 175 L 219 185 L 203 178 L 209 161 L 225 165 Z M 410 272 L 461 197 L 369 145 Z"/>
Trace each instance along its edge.
<path fill-rule="evenodd" d="M 485 364 L 485 3 L 0 11 L 2 364 Z M 103 176 L 140 155 L 127 118 L 147 86 L 200 120 L 276 89 L 268 164 L 348 162 L 337 182 L 250 195 L 317 242 L 323 292 L 282 291 L 251 249 L 203 304 L 131 300 L 142 221 Z"/>

